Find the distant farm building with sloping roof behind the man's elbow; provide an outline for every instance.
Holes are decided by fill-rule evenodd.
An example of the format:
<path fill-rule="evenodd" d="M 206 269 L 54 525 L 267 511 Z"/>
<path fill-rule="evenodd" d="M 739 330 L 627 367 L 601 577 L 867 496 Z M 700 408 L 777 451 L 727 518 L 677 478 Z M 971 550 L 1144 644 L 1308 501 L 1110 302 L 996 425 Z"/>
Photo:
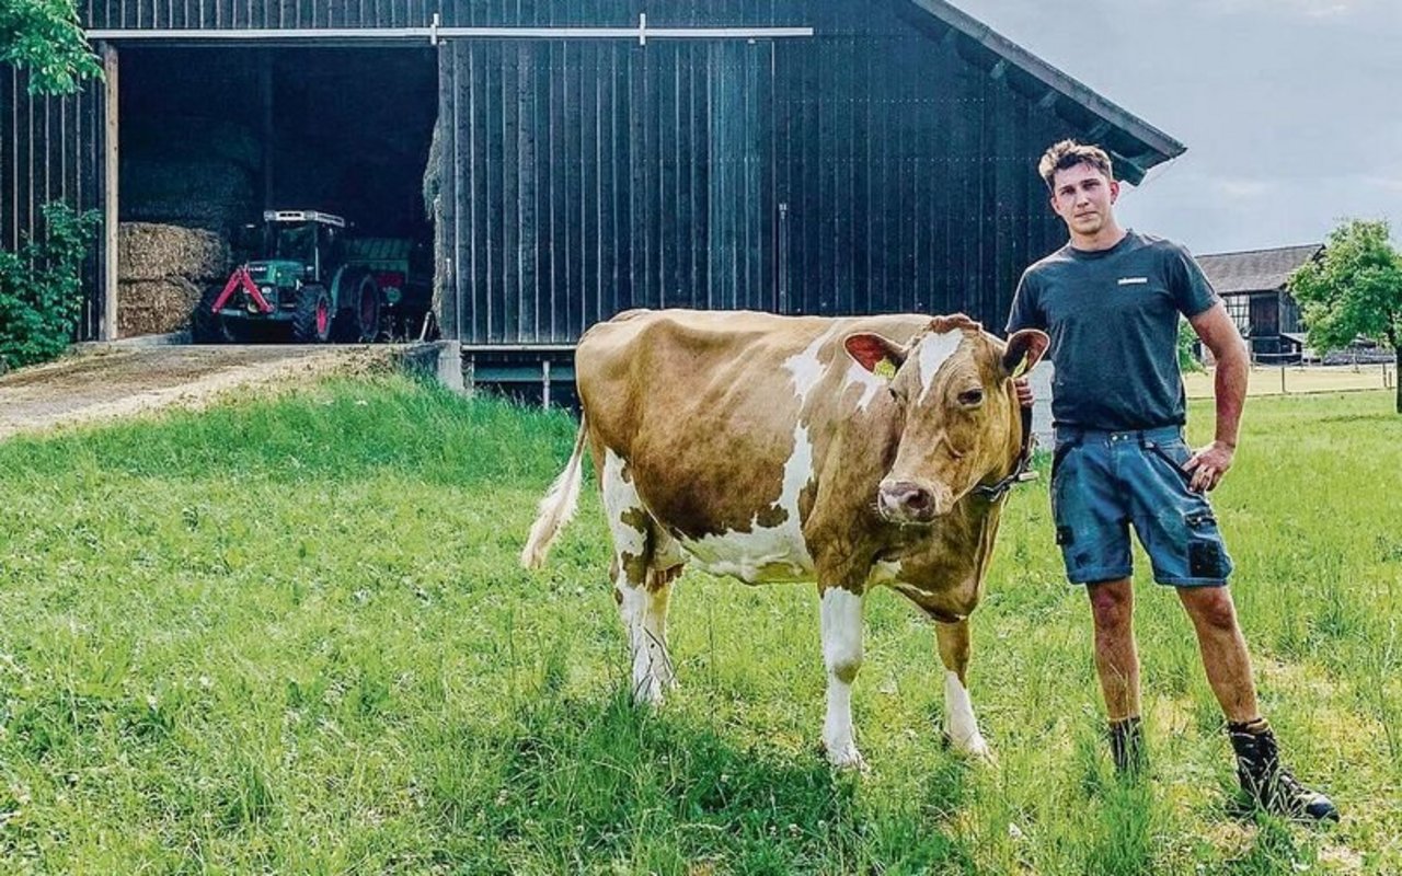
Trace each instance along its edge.
<path fill-rule="evenodd" d="M 1297 268 L 1322 251 L 1322 244 L 1307 244 L 1197 256 L 1253 356 L 1277 360 L 1302 352 L 1300 306 L 1286 292 L 1286 283 Z"/>

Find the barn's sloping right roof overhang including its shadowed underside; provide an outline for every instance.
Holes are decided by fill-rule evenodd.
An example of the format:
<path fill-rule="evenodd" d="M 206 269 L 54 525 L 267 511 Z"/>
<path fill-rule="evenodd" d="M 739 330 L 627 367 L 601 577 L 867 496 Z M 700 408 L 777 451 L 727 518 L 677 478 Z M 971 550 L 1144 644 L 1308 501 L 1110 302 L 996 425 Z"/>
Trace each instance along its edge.
<path fill-rule="evenodd" d="M 1057 70 L 1032 52 L 997 34 L 988 25 L 945 0 L 911 0 L 949 27 L 966 55 L 983 53 L 995 78 L 1050 108 L 1084 133 L 1081 137 L 1110 153 L 1115 175 L 1137 185 L 1155 164 L 1187 151 L 1187 147 L 1144 119 L 1101 97 L 1088 85 Z M 970 50 L 972 49 L 972 50 Z"/>

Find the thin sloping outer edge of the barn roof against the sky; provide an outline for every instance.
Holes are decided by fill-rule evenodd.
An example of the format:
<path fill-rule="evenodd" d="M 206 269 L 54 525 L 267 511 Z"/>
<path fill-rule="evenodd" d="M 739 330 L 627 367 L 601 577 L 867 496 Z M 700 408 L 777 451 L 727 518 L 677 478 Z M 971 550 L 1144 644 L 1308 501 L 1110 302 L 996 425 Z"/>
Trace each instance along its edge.
<path fill-rule="evenodd" d="M 1143 143 L 1147 153 L 1140 156 L 1124 156 L 1112 150 L 1115 151 L 1117 170 L 1116 175 L 1126 182 L 1138 184 L 1144 179 L 1144 174 L 1147 174 L 1150 168 L 1162 164 L 1164 161 L 1176 158 L 1187 151 L 1185 144 L 1179 143 L 1169 135 L 1164 133 L 1158 128 L 1154 128 L 1129 109 L 1124 109 L 1113 101 L 1099 95 L 1091 90 L 1089 85 L 1067 76 L 1061 70 L 1053 67 L 1032 52 L 1028 52 L 963 10 L 959 10 L 944 0 L 910 1 L 939 21 L 944 21 L 949 27 L 955 28 L 969 39 L 983 45 L 1000 57 L 1007 59 L 1009 63 L 1037 78 L 1053 91 L 1071 98 L 1106 123 L 1119 128 L 1129 136 Z"/>

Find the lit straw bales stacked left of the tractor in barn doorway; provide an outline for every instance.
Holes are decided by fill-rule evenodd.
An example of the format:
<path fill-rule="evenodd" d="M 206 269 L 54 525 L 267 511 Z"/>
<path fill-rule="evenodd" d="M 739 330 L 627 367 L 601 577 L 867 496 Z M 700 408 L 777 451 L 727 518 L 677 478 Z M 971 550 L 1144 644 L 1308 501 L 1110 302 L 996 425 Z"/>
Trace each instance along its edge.
<path fill-rule="evenodd" d="M 229 244 L 213 231 L 129 221 L 116 245 L 122 338 L 185 328 L 205 287 L 229 276 Z"/>

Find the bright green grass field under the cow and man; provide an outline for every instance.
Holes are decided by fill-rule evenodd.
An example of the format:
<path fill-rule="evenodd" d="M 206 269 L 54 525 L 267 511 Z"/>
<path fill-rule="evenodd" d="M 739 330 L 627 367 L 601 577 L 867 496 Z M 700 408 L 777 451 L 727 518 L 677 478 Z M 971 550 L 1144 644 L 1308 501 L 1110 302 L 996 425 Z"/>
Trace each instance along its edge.
<path fill-rule="evenodd" d="M 1263 705 L 1343 810 L 1322 828 L 1234 812 L 1190 628 L 1147 580 L 1152 771 L 1113 779 L 1044 485 L 973 620 L 1000 765 L 938 744 L 932 632 L 887 591 L 868 775 L 817 751 L 808 587 L 688 575 L 683 687 L 635 712 L 593 493 L 548 570 L 516 566 L 572 433 L 380 378 L 0 443 L 0 872 L 1402 872 L 1389 394 L 1253 401 L 1217 498 Z"/>

